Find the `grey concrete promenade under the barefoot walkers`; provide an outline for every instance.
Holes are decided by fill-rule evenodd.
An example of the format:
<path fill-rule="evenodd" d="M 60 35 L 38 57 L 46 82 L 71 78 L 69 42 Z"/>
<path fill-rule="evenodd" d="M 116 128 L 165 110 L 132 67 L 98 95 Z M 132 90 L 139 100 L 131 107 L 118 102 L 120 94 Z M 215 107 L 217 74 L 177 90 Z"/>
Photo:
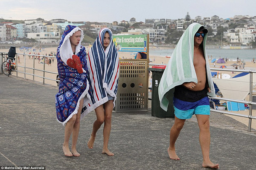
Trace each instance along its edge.
<path fill-rule="evenodd" d="M 47 170 L 205 170 L 196 118 L 186 121 L 177 139 L 180 161 L 170 160 L 167 148 L 173 118 L 148 112 L 113 111 L 109 149 L 102 154 L 103 128 L 92 150 L 87 148 L 95 113 L 81 120 L 77 150 L 67 158 L 62 151 L 64 126 L 56 120 L 58 87 L 0 74 L 0 167 L 46 166 Z M 220 170 L 256 170 L 256 131 L 228 116 L 210 116 L 210 158 Z M 71 144 L 71 141 L 70 141 Z M 71 145 L 70 145 L 71 146 Z"/>

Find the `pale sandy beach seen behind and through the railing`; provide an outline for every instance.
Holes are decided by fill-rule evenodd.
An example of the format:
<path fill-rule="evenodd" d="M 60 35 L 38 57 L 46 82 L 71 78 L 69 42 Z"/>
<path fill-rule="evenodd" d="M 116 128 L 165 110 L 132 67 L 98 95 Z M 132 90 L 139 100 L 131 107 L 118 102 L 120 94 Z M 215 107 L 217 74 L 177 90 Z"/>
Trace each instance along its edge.
<path fill-rule="evenodd" d="M 87 48 L 87 51 L 89 51 L 90 47 L 86 47 L 86 48 Z M 57 49 L 57 47 L 51 47 L 51 48 L 42 48 L 41 51 L 39 51 L 39 49 L 36 50 L 36 51 L 32 51 L 32 49 L 30 51 L 24 51 L 24 50 L 20 50 L 19 48 L 16 48 L 17 56 L 19 56 L 19 58 L 20 58 L 20 62 L 16 61 L 16 63 L 17 63 L 18 66 L 24 67 L 24 61 L 26 59 L 26 67 L 33 68 L 33 63 L 34 63 L 34 60 L 35 60 L 35 68 L 43 70 L 43 64 L 42 64 L 43 62 L 41 60 L 38 61 L 38 59 L 34 59 L 32 57 L 30 57 L 30 59 L 29 59 L 28 56 L 23 57 L 23 53 L 25 53 L 25 54 L 29 54 L 29 53 L 34 54 L 34 52 L 35 52 L 36 54 L 39 53 L 40 55 L 49 55 L 49 54 L 54 53 L 54 52 L 56 53 L 56 49 Z M 0 52 L 8 52 L 8 51 L 9 51 L 9 49 L 1 49 L 0 50 Z M 133 53 L 132 52 L 119 52 L 119 58 L 120 59 L 134 59 L 135 54 L 136 53 L 134 53 L 134 52 Z M 55 57 L 52 57 L 51 59 L 52 59 L 51 65 L 45 64 L 45 70 L 49 71 L 49 72 L 52 72 L 52 73 L 58 73 L 57 60 L 55 59 Z M 169 61 L 169 58 L 166 58 L 166 57 L 150 55 L 150 52 L 149 52 L 149 59 L 151 61 L 150 64 L 156 64 L 156 65 L 157 64 L 167 64 L 168 61 Z M 234 64 L 234 63 L 236 63 L 236 61 L 227 61 L 226 63 L 216 63 L 215 62 L 215 68 L 220 68 L 221 65 L 225 65 L 227 67 L 227 69 L 233 69 L 232 64 Z M 214 68 L 214 64 L 211 63 L 211 60 L 209 60 L 209 65 L 210 65 L 211 68 Z M 18 67 L 18 71 L 24 72 L 24 68 L 22 68 L 22 67 Z M 238 69 L 239 69 L 239 66 L 238 66 Z M 246 65 L 244 66 L 244 69 L 245 70 L 256 70 L 256 63 L 246 62 Z M 26 68 L 26 72 L 28 72 L 30 74 L 33 74 L 32 69 Z M 218 72 L 219 72 L 219 74 L 229 74 L 230 77 L 234 77 L 236 74 L 239 74 L 239 72 L 236 72 L 236 73 L 227 72 L 227 71 L 218 71 Z M 52 73 L 45 73 L 45 77 L 55 80 L 56 79 L 56 74 L 52 74 Z M 12 74 L 16 76 L 15 72 L 13 72 Z M 41 77 L 43 76 L 42 71 L 36 71 L 35 70 L 35 74 L 38 75 L 38 76 L 41 76 Z M 23 73 L 18 73 L 17 76 L 18 77 L 24 77 L 26 79 L 33 79 L 32 75 L 26 75 L 26 77 L 25 77 Z M 41 77 L 34 77 L 34 80 L 38 81 L 38 82 L 43 82 L 43 78 L 41 78 Z M 50 84 L 50 85 L 57 85 L 57 83 L 55 81 L 48 80 L 48 79 L 45 79 L 45 83 Z M 256 94 L 253 93 L 253 95 L 256 95 Z M 249 101 L 249 95 L 245 98 L 245 100 Z M 224 101 L 221 101 L 221 102 L 224 102 Z M 245 111 L 229 111 L 229 112 L 249 115 L 249 110 L 248 109 L 245 109 Z M 219 114 L 219 113 L 215 113 L 215 114 Z M 242 118 L 242 117 L 238 117 L 238 116 L 231 116 L 231 115 L 227 115 L 227 116 L 230 116 L 233 119 L 236 119 L 239 122 L 242 122 L 242 123 L 244 123 L 245 125 L 248 126 L 249 120 L 247 118 Z M 253 116 L 256 116 L 256 110 L 253 110 Z M 252 119 L 252 128 L 256 129 L 256 120 L 255 119 Z"/>

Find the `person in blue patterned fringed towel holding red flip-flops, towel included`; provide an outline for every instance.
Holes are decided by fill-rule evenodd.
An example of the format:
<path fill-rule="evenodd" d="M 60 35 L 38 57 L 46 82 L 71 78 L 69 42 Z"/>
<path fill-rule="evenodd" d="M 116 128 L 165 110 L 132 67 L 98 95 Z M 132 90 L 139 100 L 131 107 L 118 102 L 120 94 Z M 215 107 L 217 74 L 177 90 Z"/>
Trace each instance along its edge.
<path fill-rule="evenodd" d="M 83 105 L 90 102 L 86 49 L 81 46 L 83 32 L 79 27 L 66 26 L 57 48 L 59 92 L 55 95 L 57 120 L 65 125 L 63 152 L 65 156 L 80 156 L 76 150 L 80 120 L 88 113 Z M 71 152 L 69 139 L 72 133 Z"/>

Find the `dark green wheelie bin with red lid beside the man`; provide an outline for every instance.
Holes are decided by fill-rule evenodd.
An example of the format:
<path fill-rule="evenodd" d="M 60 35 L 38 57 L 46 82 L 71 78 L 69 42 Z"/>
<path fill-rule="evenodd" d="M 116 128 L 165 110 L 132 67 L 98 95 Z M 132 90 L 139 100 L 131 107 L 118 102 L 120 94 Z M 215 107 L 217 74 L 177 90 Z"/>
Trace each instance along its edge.
<path fill-rule="evenodd" d="M 174 117 L 174 108 L 173 108 L 173 93 L 174 88 L 169 90 L 165 95 L 169 100 L 169 105 L 167 111 L 164 111 L 160 107 L 160 101 L 158 96 L 158 86 L 163 75 L 163 71 L 165 66 L 152 66 L 152 68 L 148 68 L 152 72 L 152 104 L 151 104 L 151 115 L 159 118 L 167 118 Z"/>

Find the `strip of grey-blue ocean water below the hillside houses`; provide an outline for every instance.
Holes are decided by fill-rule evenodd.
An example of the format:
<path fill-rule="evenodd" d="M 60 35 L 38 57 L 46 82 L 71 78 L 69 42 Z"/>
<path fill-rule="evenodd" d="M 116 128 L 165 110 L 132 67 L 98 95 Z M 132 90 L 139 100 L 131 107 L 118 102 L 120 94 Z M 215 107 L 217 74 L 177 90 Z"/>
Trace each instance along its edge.
<path fill-rule="evenodd" d="M 174 49 L 149 49 L 150 55 L 155 56 L 171 56 Z M 209 59 L 212 56 L 212 59 L 219 57 L 227 58 L 230 60 L 236 60 L 237 57 L 241 60 L 251 61 L 253 58 L 256 59 L 256 49 L 207 49 L 207 55 Z"/>

